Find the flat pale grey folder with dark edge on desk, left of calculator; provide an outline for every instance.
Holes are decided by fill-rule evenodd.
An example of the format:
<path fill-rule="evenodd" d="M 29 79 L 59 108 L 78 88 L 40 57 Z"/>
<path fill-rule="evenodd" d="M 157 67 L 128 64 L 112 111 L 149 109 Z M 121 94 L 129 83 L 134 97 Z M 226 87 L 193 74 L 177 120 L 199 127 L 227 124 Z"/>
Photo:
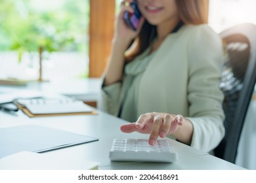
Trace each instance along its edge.
<path fill-rule="evenodd" d="M 40 125 L 4 127 L 0 128 L 0 158 L 22 151 L 46 152 L 92 141 L 98 138 Z"/>

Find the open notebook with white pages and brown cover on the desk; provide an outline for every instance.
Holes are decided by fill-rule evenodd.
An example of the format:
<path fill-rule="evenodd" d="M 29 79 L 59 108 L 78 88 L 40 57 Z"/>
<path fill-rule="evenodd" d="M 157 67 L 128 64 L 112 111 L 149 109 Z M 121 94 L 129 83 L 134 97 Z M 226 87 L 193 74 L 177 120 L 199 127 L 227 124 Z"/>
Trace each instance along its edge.
<path fill-rule="evenodd" d="M 61 98 L 16 99 L 14 104 L 29 117 L 96 114 L 83 101 Z"/>

